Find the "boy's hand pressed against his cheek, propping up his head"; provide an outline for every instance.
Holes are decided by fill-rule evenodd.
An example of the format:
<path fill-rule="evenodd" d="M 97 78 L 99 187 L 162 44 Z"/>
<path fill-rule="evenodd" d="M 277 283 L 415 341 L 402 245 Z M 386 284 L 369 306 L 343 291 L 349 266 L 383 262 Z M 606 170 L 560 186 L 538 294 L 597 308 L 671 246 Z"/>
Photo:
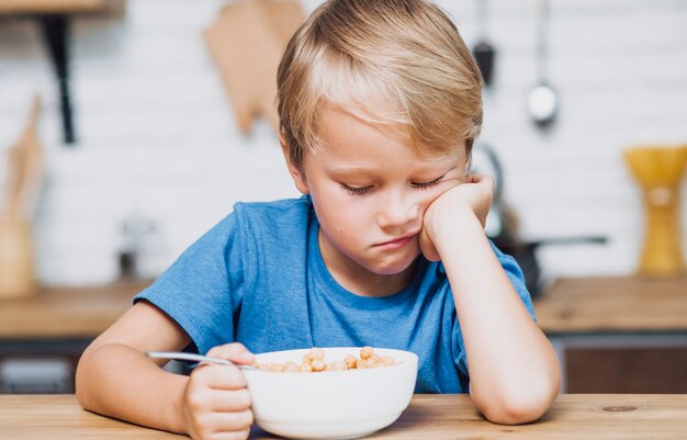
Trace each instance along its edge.
<path fill-rule="evenodd" d="M 459 228 L 461 217 L 476 216 L 482 227 L 492 206 L 494 179 L 486 174 L 469 174 L 465 182 L 439 195 L 425 211 L 420 250 L 430 261 L 441 257 L 433 245 L 451 229 Z"/>

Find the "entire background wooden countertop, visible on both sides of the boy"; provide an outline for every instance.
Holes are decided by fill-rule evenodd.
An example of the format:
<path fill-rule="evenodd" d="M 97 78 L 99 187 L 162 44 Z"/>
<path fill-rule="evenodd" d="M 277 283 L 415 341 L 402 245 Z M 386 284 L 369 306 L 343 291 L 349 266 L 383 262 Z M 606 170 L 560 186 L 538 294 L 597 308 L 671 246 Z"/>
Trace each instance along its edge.
<path fill-rule="evenodd" d="M 94 338 L 149 281 L 93 287 L 42 287 L 0 300 L 0 339 Z M 685 332 L 687 277 L 564 278 L 534 302 L 547 334 Z"/>

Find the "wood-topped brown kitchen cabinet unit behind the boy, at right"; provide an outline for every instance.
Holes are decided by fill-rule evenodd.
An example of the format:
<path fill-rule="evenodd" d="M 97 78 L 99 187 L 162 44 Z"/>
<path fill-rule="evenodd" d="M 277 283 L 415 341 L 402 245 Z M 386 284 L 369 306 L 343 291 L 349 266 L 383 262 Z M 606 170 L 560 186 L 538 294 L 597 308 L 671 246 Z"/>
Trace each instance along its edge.
<path fill-rule="evenodd" d="M 534 302 L 566 393 L 687 393 L 687 277 L 560 279 Z"/>

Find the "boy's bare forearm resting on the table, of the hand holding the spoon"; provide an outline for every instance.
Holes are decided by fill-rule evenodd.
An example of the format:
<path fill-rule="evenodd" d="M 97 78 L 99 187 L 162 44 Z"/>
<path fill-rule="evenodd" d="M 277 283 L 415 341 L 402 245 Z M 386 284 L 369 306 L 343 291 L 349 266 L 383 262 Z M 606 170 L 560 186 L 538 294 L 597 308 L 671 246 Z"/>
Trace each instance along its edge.
<path fill-rule="evenodd" d="M 164 371 L 131 347 L 90 347 L 79 361 L 76 393 L 94 413 L 184 432 L 181 403 L 188 377 Z"/>

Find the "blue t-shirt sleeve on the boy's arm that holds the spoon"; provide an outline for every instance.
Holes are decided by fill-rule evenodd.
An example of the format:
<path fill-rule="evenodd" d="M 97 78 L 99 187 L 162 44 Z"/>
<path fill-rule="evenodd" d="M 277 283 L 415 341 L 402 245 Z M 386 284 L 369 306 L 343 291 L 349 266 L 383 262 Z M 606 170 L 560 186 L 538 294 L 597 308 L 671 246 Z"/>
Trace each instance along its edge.
<path fill-rule="evenodd" d="M 234 341 L 234 313 L 246 279 L 237 223 L 229 214 L 134 297 L 169 315 L 200 353 Z"/>

